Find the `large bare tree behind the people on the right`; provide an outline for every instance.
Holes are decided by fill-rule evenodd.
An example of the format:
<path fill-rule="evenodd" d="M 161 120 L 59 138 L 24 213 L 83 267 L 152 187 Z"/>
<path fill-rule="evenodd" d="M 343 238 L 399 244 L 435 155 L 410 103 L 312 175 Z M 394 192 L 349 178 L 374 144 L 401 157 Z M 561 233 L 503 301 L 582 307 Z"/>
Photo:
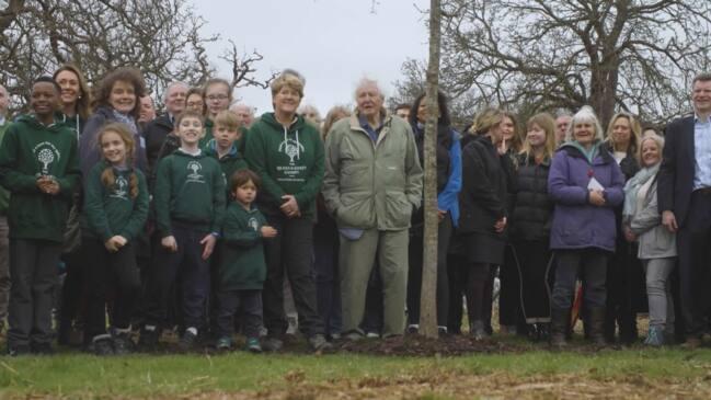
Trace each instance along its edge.
<path fill-rule="evenodd" d="M 443 0 L 441 80 L 451 94 L 531 110 L 590 104 L 661 122 L 707 69 L 708 0 Z"/>

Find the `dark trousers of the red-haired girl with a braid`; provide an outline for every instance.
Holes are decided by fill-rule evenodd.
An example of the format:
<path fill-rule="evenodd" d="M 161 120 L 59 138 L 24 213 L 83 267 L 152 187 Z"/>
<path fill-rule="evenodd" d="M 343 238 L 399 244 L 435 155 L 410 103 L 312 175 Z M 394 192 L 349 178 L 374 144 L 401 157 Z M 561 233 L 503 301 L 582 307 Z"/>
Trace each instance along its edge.
<path fill-rule="evenodd" d="M 89 343 L 92 338 L 106 333 L 106 300 L 110 293 L 114 300 L 111 324 L 118 329 L 130 327 L 135 300 L 140 290 L 140 273 L 136 265 L 136 248 L 131 242 L 112 253 L 101 240 L 84 238 L 82 251 L 88 261 L 84 342 Z"/>

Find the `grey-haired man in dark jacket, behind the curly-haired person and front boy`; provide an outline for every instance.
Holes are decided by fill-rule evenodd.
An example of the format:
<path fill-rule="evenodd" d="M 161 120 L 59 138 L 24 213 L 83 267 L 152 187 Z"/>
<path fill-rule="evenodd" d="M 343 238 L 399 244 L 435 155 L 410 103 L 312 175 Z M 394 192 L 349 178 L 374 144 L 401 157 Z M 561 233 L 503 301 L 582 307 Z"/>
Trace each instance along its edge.
<path fill-rule="evenodd" d="M 165 140 L 165 136 L 173 130 L 173 121 L 175 121 L 177 114 L 185 110 L 187 90 L 187 84 L 183 82 L 170 83 L 163 93 L 165 113 L 149 122 L 144 129 L 149 171 L 152 171 L 153 165 L 158 162 L 158 153 L 163 145 L 163 140 Z"/>

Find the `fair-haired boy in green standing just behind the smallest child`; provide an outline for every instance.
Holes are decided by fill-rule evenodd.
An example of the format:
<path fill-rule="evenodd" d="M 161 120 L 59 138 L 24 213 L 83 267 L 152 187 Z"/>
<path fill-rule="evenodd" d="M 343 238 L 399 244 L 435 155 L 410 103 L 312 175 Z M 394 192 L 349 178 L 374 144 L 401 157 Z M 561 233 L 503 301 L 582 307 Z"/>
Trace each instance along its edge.
<path fill-rule="evenodd" d="M 240 119 L 231 111 L 225 110 L 217 113 L 214 119 L 213 139 L 205 146 L 205 152 L 215 157 L 220 162 L 225 185 L 234 172 L 246 169 L 246 161 L 238 149 L 238 141 L 242 138 Z M 228 201 L 229 201 L 228 191 Z"/>

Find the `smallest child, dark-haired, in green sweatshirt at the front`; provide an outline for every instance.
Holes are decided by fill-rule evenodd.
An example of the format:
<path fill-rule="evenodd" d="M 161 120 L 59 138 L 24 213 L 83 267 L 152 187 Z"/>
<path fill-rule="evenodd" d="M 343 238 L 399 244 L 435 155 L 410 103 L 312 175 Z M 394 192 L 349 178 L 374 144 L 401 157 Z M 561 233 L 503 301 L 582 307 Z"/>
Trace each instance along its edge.
<path fill-rule="evenodd" d="M 217 348 L 232 346 L 234 312 L 242 309 L 241 325 L 246 335 L 246 350 L 259 353 L 262 325 L 262 287 L 266 278 L 264 239 L 276 237 L 274 228 L 252 205 L 260 185 L 250 170 L 237 171 L 230 180 L 234 202 L 227 207 L 222 226 L 219 289 L 217 294 Z"/>

